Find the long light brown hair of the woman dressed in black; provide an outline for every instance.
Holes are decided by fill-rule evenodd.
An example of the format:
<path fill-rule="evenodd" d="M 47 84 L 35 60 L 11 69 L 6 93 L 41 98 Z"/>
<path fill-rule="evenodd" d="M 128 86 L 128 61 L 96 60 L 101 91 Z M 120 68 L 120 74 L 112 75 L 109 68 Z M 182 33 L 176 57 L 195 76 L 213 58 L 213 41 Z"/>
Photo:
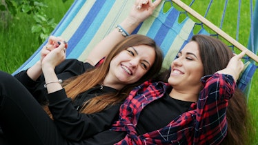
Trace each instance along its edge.
<path fill-rule="evenodd" d="M 143 75 L 141 79 L 133 84 L 129 84 L 123 87 L 117 93 L 107 93 L 105 95 L 100 95 L 90 99 L 89 101 L 86 101 L 80 113 L 97 113 L 109 105 L 117 104 L 128 96 L 130 90 L 132 90 L 133 87 L 139 86 L 139 84 L 142 84 L 143 81 L 151 79 L 157 75 L 161 69 L 163 61 L 163 54 L 160 48 L 157 46 L 155 41 L 149 37 L 144 35 L 130 35 L 130 37 L 126 37 L 126 39 L 123 39 L 123 41 L 117 43 L 115 48 L 112 49 L 101 66 L 88 70 L 77 77 L 67 79 L 64 82 L 64 88 L 66 90 L 67 96 L 74 100 L 80 93 L 83 93 L 86 90 L 97 86 L 97 84 L 101 84 L 109 71 L 109 64 L 113 57 L 118 55 L 121 51 L 126 50 L 126 48 L 130 46 L 138 46 L 141 44 L 150 46 L 155 50 L 155 62 L 152 64 L 152 67 L 148 70 L 148 72 L 146 72 L 146 74 Z"/>

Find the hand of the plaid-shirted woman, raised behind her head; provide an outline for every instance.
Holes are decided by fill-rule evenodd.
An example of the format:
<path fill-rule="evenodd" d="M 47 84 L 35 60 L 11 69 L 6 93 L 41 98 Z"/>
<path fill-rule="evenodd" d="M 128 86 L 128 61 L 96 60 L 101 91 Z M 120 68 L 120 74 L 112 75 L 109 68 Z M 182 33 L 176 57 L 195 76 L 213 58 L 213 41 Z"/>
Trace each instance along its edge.
<path fill-rule="evenodd" d="M 237 81 L 240 73 L 244 70 L 244 63 L 241 61 L 241 58 L 246 55 L 246 51 L 239 53 L 239 55 L 235 55 L 228 62 L 228 66 L 223 70 L 219 70 L 218 73 L 224 73 L 228 75 L 232 75 L 232 77 Z"/>

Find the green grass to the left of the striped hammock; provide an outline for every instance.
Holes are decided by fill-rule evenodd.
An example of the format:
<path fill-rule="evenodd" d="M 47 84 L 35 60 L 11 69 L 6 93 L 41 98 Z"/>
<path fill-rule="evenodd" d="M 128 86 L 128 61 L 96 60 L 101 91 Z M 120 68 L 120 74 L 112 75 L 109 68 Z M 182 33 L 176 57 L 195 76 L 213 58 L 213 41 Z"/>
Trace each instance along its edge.
<path fill-rule="evenodd" d="M 44 1 L 48 3 L 46 15 L 53 17 L 56 23 L 59 23 L 73 2 L 71 0 L 66 3 L 60 0 L 53 0 L 51 3 L 48 0 Z M 9 73 L 17 70 L 41 45 L 41 41 L 37 39 L 39 36 L 31 32 L 34 24 L 32 14 L 18 13 L 17 16 L 16 19 L 10 19 L 10 16 L 1 14 L 0 20 L 0 70 Z M 5 25 L 1 25 L 3 23 Z"/>

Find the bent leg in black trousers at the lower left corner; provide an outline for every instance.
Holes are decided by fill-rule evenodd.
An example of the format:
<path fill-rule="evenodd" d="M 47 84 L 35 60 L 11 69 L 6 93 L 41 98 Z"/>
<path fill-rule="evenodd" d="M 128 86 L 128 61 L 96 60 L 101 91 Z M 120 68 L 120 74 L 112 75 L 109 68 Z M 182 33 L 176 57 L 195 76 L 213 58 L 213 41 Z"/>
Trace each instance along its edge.
<path fill-rule="evenodd" d="M 14 144 L 66 144 L 28 90 L 12 75 L 1 71 L 0 126 Z"/>

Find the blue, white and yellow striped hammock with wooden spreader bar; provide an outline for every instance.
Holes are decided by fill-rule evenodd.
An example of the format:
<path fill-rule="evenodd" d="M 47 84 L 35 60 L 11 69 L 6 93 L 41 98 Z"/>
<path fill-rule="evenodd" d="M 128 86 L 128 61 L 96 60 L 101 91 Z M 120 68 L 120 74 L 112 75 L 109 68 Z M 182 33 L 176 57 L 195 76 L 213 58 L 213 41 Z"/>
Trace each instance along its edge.
<path fill-rule="evenodd" d="M 190 14 L 194 16 L 198 14 L 181 1 L 172 1 L 177 3 L 178 6 L 186 8 L 186 11 Z M 192 35 L 194 35 L 193 30 L 198 24 L 190 19 L 190 17 L 186 17 L 181 23 L 178 23 L 181 12 L 174 8 L 173 4 L 175 3 L 172 3 L 168 12 L 163 12 L 163 6 L 165 6 L 164 3 L 167 2 L 171 3 L 171 1 L 163 1 L 152 16 L 141 23 L 133 32 L 133 34 L 138 33 L 147 35 L 148 37 L 155 39 L 165 56 L 163 60 L 164 68 L 169 68 L 170 63 L 177 55 L 177 52 L 179 52 L 179 50 L 188 43 Z M 133 3 L 134 1 L 132 0 L 75 1 L 51 35 L 61 36 L 68 41 L 69 47 L 66 51 L 67 59 L 74 58 L 84 61 L 90 50 L 92 50 L 101 39 L 108 35 L 108 33 L 127 16 Z M 199 17 L 199 15 L 195 17 Z M 240 50 L 247 49 L 216 26 L 212 26 L 212 23 L 204 17 L 201 17 L 199 20 L 201 21 L 201 25 L 205 24 L 210 26 L 212 30 L 215 29 L 214 31 L 217 33 L 217 36 L 222 36 L 224 38 L 226 36 L 226 39 L 232 43 L 233 46 Z M 201 28 L 198 33 L 211 35 L 204 28 Z M 21 70 L 26 70 L 35 64 L 35 62 L 39 60 L 40 50 L 46 42 L 47 41 L 42 43 L 39 49 L 12 75 Z M 258 61 L 257 55 L 253 52 L 254 51 L 250 50 L 247 52 L 248 58 L 251 57 L 251 59 Z M 248 86 L 256 68 L 255 62 L 250 63 L 250 61 L 248 61 L 246 70 L 241 75 L 240 81 L 238 81 L 238 86 L 242 90 L 245 90 L 246 86 Z"/>

